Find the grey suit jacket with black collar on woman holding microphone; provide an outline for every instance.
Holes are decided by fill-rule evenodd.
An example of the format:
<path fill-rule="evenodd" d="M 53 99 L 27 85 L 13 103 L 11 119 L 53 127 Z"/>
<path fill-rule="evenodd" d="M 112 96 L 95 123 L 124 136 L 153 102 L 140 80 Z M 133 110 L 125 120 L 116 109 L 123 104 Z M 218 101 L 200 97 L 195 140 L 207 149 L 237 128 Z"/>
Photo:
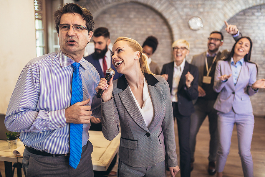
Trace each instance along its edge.
<path fill-rule="evenodd" d="M 125 76 L 113 81 L 112 99 L 102 102 L 102 132 L 112 140 L 120 131 L 120 160 L 132 167 L 154 166 L 165 160 L 178 165 L 173 110 L 168 82 L 162 76 L 145 73 L 155 116 L 147 128 L 128 87 Z"/>

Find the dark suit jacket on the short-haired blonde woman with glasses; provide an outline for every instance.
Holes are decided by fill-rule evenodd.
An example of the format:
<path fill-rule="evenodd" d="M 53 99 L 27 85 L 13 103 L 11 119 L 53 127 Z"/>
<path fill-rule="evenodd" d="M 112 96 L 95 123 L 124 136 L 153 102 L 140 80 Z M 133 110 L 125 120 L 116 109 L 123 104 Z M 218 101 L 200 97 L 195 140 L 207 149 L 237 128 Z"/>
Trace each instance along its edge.
<path fill-rule="evenodd" d="M 170 88 L 170 93 L 172 91 L 172 84 L 173 84 L 173 71 L 174 71 L 174 61 L 163 65 L 161 71 L 161 75 L 168 74 L 168 85 Z M 191 87 L 189 89 L 187 89 L 185 84 L 186 82 L 185 75 L 188 73 L 188 71 L 194 77 L 191 83 Z M 180 114 L 183 116 L 190 116 L 191 113 L 194 112 L 192 100 L 198 98 L 198 77 L 199 77 L 198 68 L 194 65 L 189 64 L 186 61 L 178 84 L 178 109 Z"/>

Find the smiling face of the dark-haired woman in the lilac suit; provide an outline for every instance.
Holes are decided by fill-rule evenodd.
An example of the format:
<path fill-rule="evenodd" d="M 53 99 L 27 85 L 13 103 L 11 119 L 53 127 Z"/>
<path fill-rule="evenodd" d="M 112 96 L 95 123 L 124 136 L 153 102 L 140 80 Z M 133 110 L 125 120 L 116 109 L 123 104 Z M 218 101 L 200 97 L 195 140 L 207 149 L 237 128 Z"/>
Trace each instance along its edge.
<path fill-rule="evenodd" d="M 236 42 L 234 55 L 243 58 L 250 50 L 250 42 L 247 38 L 241 38 Z"/>

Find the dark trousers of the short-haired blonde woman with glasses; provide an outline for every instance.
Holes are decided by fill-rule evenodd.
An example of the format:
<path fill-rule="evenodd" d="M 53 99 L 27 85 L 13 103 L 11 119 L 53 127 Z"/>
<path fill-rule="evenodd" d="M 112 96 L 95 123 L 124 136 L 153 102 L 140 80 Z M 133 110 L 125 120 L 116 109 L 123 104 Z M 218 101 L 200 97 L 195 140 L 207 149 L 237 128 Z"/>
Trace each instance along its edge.
<path fill-rule="evenodd" d="M 191 151 L 190 151 L 190 126 L 191 117 L 179 113 L 178 103 L 172 103 L 173 116 L 176 117 L 178 125 L 178 140 L 180 152 L 180 174 L 181 177 L 191 176 Z"/>

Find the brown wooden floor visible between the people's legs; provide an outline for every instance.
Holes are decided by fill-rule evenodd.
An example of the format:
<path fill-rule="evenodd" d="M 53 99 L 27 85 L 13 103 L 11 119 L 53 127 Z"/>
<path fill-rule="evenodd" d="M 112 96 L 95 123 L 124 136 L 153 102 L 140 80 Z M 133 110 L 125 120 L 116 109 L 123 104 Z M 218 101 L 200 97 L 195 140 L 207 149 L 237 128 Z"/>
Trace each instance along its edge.
<path fill-rule="evenodd" d="M 178 150 L 178 134 L 177 127 L 175 123 L 175 137 L 177 143 L 177 153 L 179 157 Z M 208 168 L 208 150 L 209 150 L 209 131 L 208 131 L 208 119 L 205 119 L 203 125 L 197 136 L 196 152 L 195 152 L 195 162 L 194 169 L 191 172 L 192 177 L 211 177 L 207 173 Z M 237 133 L 236 127 L 233 129 L 233 135 L 231 139 L 231 149 L 230 154 L 226 162 L 223 174 L 224 177 L 242 177 L 242 167 L 240 157 L 238 155 L 238 144 L 237 144 Z M 251 154 L 254 162 L 254 177 L 265 177 L 265 118 L 255 117 L 255 126 L 253 139 L 251 144 Z M 4 162 L 0 162 L 1 174 L 4 174 Z M 113 171 L 117 170 L 117 165 L 113 168 Z M 16 177 L 16 172 L 14 177 Z M 24 176 L 24 174 L 22 174 Z M 177 173 L 176 177 L 180 177 L 180 173 Z"/>

